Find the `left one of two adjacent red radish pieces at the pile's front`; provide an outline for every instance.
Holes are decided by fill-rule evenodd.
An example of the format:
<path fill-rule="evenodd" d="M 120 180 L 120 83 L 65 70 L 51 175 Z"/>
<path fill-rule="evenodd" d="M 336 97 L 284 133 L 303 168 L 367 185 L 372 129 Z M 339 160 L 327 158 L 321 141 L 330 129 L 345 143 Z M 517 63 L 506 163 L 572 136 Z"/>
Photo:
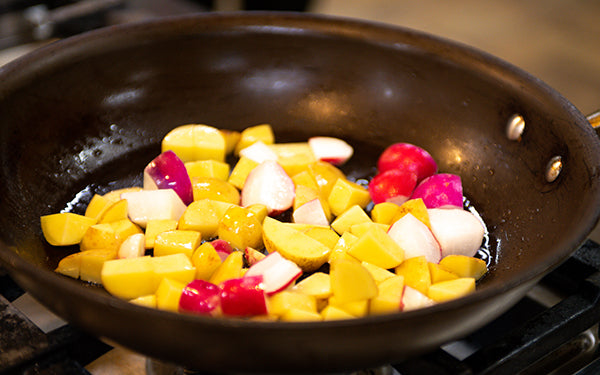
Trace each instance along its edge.
<path fill-rule="evenodd" d="M 221 288 L 205 280 L 194 280 L 183 288 L 179 312 L 210 315 L 219 307 Z"/>

